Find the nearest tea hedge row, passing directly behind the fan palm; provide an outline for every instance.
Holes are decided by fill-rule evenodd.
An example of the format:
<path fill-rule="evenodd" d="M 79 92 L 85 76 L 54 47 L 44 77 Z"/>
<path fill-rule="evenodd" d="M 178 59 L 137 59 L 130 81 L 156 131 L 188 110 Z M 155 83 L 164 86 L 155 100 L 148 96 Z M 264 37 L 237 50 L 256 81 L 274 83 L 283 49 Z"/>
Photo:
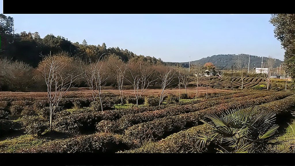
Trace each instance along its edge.
<path fill-rule="evenodd" d="M 281 100 L 269 102 L 256 106 L 258 111 L 284 113 L 294 107 L 295 95 Z M 258 112 L 259 113 L 259 112 Z M 189 128 L 185 131 L 172 134 L 158 142 L 146 144 L 138 149 L 125 151 L 124 153 L 198 153 L 199 148 L 195 147 L 196 137 L 200 134 L 210 134 L 210 127 L 206 124 Z"/>

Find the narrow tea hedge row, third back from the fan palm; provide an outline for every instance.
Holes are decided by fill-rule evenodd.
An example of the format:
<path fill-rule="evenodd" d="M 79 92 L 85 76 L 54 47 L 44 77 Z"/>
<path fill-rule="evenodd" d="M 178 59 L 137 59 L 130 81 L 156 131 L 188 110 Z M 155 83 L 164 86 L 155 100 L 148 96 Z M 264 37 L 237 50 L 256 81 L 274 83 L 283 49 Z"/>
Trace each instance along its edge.
<path fill-rule="evenodd" d="M 139 124 L 139 123 L 153 121 L 155 119 L 163 118 L 167 116 L 174 116 L 174 115 L 179 115 L 183 113 L 199 111 L 199 110 L 213 107 L 215 105 L 219 105 L 221 103 L 240 101 L 243 99 L 244 96 L 248 96 L 253 93 L 257 93 L 257 92 L 238 93 L 238 94 L 233 94 L 233 95 L 228 95 L 223 97 L 216 97 L 212 101 L 201 102 L 194 105 L 173 106 L 173 107 L 165 108 L 163 110 L 155 110 L 155 111 L 148 111 L 144 113 L 125 115 L 117 121 L 101 121 L 100 123 L 97 124 L 96 129 L 98 131 L 104 131 L 104 132 L 122 133 L 128 127 Z M 259 96 L 265 97 L 269 94 L 271 93 L 270 92 L 263 93 Z M 249 97 L 255 98 L 257 97 L 257 95 L 250 95 Z"/>

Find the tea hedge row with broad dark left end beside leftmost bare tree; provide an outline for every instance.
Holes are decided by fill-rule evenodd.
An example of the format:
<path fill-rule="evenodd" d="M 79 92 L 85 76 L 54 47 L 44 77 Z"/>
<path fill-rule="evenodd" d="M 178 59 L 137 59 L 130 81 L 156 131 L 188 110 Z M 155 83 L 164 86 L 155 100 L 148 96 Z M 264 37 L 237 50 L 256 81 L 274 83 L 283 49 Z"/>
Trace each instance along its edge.
<path fill-rule="evenodd" d="M 217 93 L 213 94 L 212 96 L 217 95 L 228 95 L 228 94 L 235 94 L 238 95 L 240 92 L 226 92 L 226 93 Z M 226 96 L 225 96 L 226 97 Z M 231 97 L 229 97 L 231 98 Z M 192 100 L 193 102 L 201 102 L 205 101 L 206 99 L 200 100 Z M 56 119 L 53 121 L 54 128 L 58 131 L 65 132 L 67 134 L 81 134 L 83 130 L 95 130 L 95 125 L 98 122 L 103 120 L 116 120 L 121 118 L 123 115 L 128 114 L 136 114 L 136 113 L 143 113 L 147 111 L 155 111 L 161 110 L 164 108 L 168 108 L 171 106 L 175 106 L 176 104 L 167 104 L 167 105 L 160 105 L 154 107 L 138 107 L 138 108 L 131 108 L 131 109 L 121 109 L 121 110 L 104 110 L 104 111 L 93 111 L 88 109 L 77 110 L 73 113 L 69 113 L 68 111 L 61 111 L 55 114 Z M 109 121 L 108 121 L 109 122 Z M 109 125 L 108 123 L 101 122 L 101 124 Z M 103 131 L 103 130 L 102 130 Z"/>

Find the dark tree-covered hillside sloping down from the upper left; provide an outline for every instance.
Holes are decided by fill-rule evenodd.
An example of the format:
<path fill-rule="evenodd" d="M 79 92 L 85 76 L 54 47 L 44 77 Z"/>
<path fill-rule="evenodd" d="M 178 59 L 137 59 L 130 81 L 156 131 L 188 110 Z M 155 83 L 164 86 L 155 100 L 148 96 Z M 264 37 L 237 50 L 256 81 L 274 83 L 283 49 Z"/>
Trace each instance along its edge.
<path fill-rule="evenodd" d="M 89 45 L 86 40 L 82 43 L 71 42 L 62 36 L 48 34 L 40 38 L 38 32 L 14 33 L 13 17 L 0 14 L 0 58 L 8 58 L 12 61 L 23 61 L 36 67 L 42 60 L 42 56 L 66 52 L 69 56 L 80 58 L 84 61 L 98 60 L 101 56 L 115 54 L 123 61 L 136 57 L 135 53 L 119 47 L 107 48 L 105 43 L 102 45 Z M 150 56 L 137 56 L 154 64 L 163 64 L 160 58 Z"/>

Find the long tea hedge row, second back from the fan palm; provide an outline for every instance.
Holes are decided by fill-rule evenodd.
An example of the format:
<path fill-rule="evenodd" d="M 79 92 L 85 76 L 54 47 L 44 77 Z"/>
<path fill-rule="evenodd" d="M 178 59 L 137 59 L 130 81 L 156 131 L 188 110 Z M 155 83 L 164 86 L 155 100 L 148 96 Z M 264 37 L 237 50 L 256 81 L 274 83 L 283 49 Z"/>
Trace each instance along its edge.
<path fill-rule="evenodd" d="M 256 99 L 253 99 L 253 97 L 244 97 L 241 101 L 224 103 L 205 110 L 140 123 L 125 130 L 124 139 L 126 139 L 126 141 L 130 144 L 139 146 L 146 140 L 159 140 L 187 127 L 196 126 L 198 125 L 199 119 L 204 119 L 204 116 L 208 113 L 221 113 L 228 109 L 260 105 L 280 100 L 290 95 L 291 93 L 282 92 Z"/>

